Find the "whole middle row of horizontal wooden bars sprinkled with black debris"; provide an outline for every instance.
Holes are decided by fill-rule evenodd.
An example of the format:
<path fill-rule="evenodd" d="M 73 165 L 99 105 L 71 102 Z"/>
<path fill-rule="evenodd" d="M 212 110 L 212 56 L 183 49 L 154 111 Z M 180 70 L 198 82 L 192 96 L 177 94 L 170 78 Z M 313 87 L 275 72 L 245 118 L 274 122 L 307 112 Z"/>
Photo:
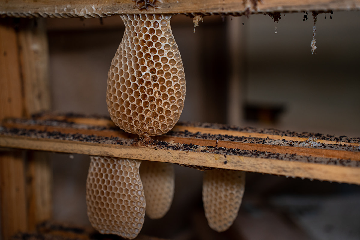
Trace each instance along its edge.
<path fill-rule="evenodd" d="M 168 134 L 139 140 L 135 135 L 112 127 L 108 119 L 46 118 L 4 121 L 0 129 L 0 147 L 125 157 L 192 165 L 200 169 L 242 170 L 360 184 L 358 138 L 342 136 L 339 138 L 346 142 L 334 141 L 333 144 L 319 143 L 311 137 L 310 141 L 300 142 L 270 139 L 269 136 L 276 134 L 265 134 L 266 138 L 239 138 L 222 134 L 224 131 L 240 133 L 230 127 L 232 130 L 224 129 L 224 125 L 195 127 L 196 124 L 179 124 Z M 252 130 L 252 133 L 248 130 L 249 135 L 270 131 Z M 324 138 L 324 135 L 315 135 Z M 346 143 L 348 145 L 344 145 Z"/>

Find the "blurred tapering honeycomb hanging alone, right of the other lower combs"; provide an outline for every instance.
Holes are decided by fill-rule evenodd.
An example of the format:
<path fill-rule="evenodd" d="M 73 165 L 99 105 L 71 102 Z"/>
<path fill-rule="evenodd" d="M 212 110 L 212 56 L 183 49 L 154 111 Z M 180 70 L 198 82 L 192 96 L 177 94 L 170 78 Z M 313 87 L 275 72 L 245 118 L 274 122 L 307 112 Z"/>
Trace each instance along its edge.
<path fill-rule="evenodd" d="M 238 215 L 245 190 L 245 172 L 208 170 L 203 178 L 205 216 L 211 229 L 223 232 Z"/>

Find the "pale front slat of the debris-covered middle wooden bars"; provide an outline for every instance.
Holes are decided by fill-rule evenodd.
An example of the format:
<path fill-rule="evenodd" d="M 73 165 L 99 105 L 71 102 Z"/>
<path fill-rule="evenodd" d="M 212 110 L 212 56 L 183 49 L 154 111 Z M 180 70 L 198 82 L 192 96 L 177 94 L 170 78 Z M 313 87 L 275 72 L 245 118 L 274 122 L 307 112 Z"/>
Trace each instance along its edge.
<path fill-rule="evenodd" d="M 359 167 L 283 161 L 260 157 L 232 156 L 207 152 L 177 151 L 151 147 L 73 142 L 70 140 L 56 139 L 28 139 L 0 136 L 0 146 L 64 153 L 124 157 L 148 161 L 170 162 L 182 165 L 262 172 L 308 179 L 336 181 L 339 183 L 360 184 Z"/>

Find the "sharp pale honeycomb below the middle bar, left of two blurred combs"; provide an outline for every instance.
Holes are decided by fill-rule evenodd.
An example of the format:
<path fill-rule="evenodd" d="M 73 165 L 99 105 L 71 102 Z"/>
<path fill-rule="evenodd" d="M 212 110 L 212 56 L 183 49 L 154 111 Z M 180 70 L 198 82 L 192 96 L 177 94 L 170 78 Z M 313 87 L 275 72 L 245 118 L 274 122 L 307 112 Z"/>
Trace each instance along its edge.
<path fill-rule="evenodd" d="M 86 181 L 87 215 L 102 234 L 133 239 L 143 227 L 145 196 L 140 160 L 90 157 Z"/>

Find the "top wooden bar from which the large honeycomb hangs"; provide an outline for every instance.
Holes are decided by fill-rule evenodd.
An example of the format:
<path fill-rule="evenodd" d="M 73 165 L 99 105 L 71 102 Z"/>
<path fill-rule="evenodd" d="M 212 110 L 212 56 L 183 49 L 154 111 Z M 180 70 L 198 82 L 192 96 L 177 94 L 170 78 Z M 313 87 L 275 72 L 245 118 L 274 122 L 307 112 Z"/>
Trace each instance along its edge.
<path fill-rule="evenodd" d="M 255 6 L 256 3 L 256 6 Z M 157 8 L 136 8 L 132 0 L 1 0 L 0 15 L 9 17 L 106 17 L 122 13 L 244 14 L 288 11 L 359 10 L 360 0 L 168 0 L 156 1 Z M 249 10 L 247 10 L 249 9 Z"/>

